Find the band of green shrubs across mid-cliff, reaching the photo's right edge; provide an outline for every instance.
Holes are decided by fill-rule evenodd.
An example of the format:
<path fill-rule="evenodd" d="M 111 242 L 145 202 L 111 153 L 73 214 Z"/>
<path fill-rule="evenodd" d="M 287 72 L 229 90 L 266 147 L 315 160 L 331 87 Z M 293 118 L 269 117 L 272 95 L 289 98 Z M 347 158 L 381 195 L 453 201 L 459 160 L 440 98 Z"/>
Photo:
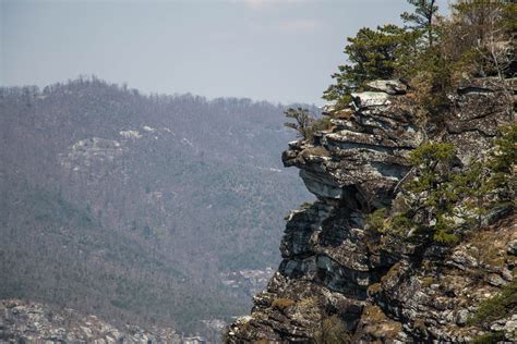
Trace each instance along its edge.
<path fill-rule="evenodd" d="M 515 207 L 517 123 L 501 128 L 486 161 L 462 165 L 454 145 L 431 142 L 414 149 L 409 161 L 413 177 L 390 208 L 366 216 L 370 230 L 455 244 L 460 230 L 481 226 L 484 214 L 502 205 Z"/>

